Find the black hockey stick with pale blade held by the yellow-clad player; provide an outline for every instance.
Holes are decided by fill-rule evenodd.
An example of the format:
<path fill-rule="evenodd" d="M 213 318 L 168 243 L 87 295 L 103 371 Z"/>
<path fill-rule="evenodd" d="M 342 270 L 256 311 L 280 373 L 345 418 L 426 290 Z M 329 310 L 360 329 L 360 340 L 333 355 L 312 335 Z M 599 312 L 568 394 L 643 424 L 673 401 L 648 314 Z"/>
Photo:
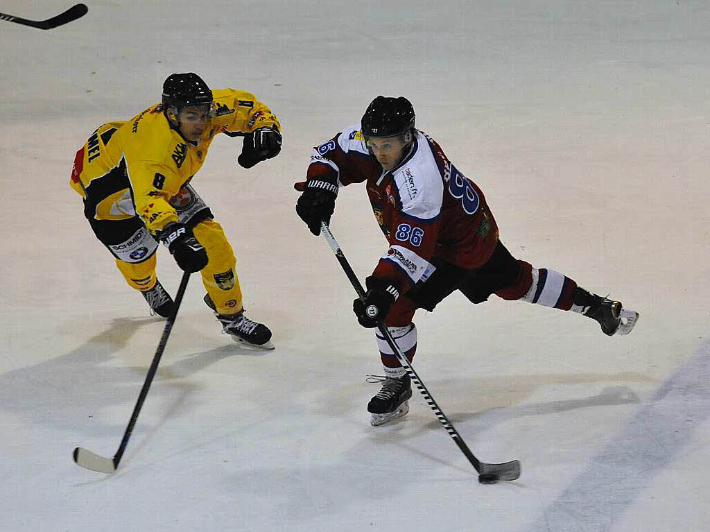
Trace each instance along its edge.
<path fill-rule="evenodd" d="M 141 394 L 138 396 L 138 401 L 136 402 L 136 407 L 133 408 L 133 415 L 129 421 L 128 427 L 126 427 L 126 432 L 124 433 L 124 439 L 121 440 L 121 445 L 119 445 L 119 450 L 113 458 L 104 458 L 84 449 L 84 447 L 77 447 L 74 450 L 73 456 L 74 461 L 77 462 L 81 467 L 86 467 L 87 469 L 92 469 L 92 471 L 98 471 L 99 473 L 113 473 L 119 467 L 119 462 L 121 457 L 124 455 L 126 450 L 126 445 L 129 443 L 129 438 L 131 438 L 131 433 L 133 432 L 133 426 L 136 425 L 136 420 L 138 419 L 138 413 L 141 412 L 141 407 L 143 406 L 143 401 L 146 401 L 146 396 L 148 395 L 148 389 L 151 388 L 151 383 L 153 382 L 153 377 L 155 376 L 155 371 L 158 371 L 158 363 L 160 362 L 160 357 L 163 356 L 163 351 L 165 350 L 165 344 L 168 343 L 168 337 L 170 337 L 170 330 L 173 329 L 173 324 L 175 323 L 175 317 L 178 315 L 178 309 L 180 308 L 180 303 L 182 302 L 182 295 L 185 294 L 185 288 L 187 288 L 187 281 L 190 281 L 190 272 L 186 271 L 182 274 L 182 280 L 180 281 L 180 288 L 178 288 L 178 293 L 175 295 L 175 303 L 173 304 L 173 311 L 168 317 L 168 322 L 165 323 L 165 328 L 163 329 L 163 336 L 160 337 L 160 342 L 158 343 L 158 349 L 155 350 L 155 356 L 153 357 L 153 363 L 150 369 L 148 369 L 148 374 L 146 375 L 146 380 L 143 382 L 143 388 L 141 389 Z"/>

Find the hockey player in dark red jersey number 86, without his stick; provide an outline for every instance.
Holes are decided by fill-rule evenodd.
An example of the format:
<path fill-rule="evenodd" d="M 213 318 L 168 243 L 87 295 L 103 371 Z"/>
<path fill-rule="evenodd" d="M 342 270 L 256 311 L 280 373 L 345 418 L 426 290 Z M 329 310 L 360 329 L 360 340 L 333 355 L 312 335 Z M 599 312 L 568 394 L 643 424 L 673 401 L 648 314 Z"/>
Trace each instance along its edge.
<path fill-rule="evenodd" d="M 296 212 L 310 231 L 328 223 L 341 186 L 366 183 L 373 212 L 390 246 L 366 278 L 364 300 L 353 310 L 364 327 L 384 322 L 402 352 L 417 349 L 415 310 L 434 310 L 461 291 L 472 303 L 492 294 L 591 317 L 609 336 L 626 335 L 638 313 L 616 300 L 577 286 L 557 271 L 535 268 L 511 256 L 498 239 L 498 224 L 481 189 L 449 161 L 441 146 L 415 128 L 412 104 L 379 96 L 360 126 L 344 129 L 314 148 Z M 373 317 L 371 307 L 378 309 Z M 370 312 L 365 313 L 369 308 Z M 371 423 L 404 416 L 412 396 L 410 378 L 387 342 L 377 343 L 386 374 L 368 404 Z"/>

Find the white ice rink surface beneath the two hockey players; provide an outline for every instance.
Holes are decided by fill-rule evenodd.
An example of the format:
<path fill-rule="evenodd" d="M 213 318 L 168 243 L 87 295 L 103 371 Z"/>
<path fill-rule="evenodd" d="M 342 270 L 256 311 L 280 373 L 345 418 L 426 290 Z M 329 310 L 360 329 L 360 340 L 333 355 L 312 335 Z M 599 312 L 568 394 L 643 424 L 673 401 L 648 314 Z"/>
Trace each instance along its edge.
<path fill-rule="evenodd" d="M 40 31 L 0 21 L 0 530 L 703 532 L 710 529 L 710 8 L 705 1 L 87 2 Z M 8 0 L 43 19 L 69 2 Z M 172 72 L 256 94 L 280 156 L 217 139 L 192 184 L 234 246 L 273 352 L 220 334 L 187 288 L 116 474 L 164 322 L 68 185 L 99 125 Z M 295 215 L 310 149 L 405 95 L 486 194 L 501 240 L 641 314 L 606 337 L 572 313 L 452 295 L 415 317 L 415 368 L 471 450 L 519 459 L 484 486 L 417 395 L 373 428 L 373 332 Z M 364 279 L 386 244 L 361 186 L 332 230 Z M 172 293 L 181 272 L 164 249 Z"/>

